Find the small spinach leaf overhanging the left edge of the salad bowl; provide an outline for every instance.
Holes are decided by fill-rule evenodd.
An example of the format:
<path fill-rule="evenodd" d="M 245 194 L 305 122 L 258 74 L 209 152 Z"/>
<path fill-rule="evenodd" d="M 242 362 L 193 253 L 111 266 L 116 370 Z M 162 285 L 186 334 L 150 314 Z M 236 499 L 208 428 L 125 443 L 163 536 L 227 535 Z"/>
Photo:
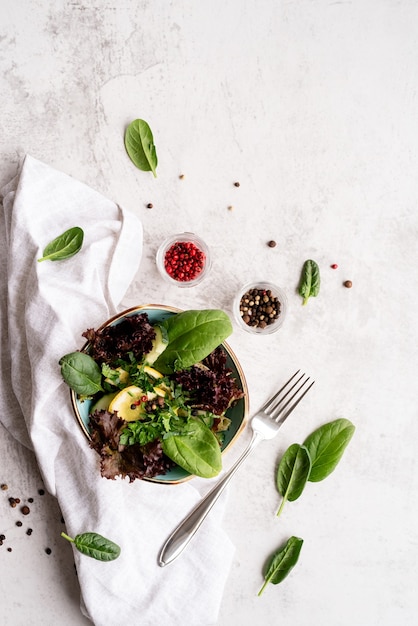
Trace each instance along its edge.
<path fill-rule="evenodd" d="M 61 374 L 67 385 L 79 396 L 94 396 L 102 387 L 102 373 L 96 361 L 84 352 L 61 357 Z"/>

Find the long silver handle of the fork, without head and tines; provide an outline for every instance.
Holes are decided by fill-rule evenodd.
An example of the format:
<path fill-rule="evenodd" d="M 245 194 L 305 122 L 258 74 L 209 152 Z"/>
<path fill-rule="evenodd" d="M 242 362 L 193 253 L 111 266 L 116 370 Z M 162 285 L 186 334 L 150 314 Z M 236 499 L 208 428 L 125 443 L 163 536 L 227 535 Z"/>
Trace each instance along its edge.
<path fill-rule="evenodd" d="M 234 465 L 224 474 L 221 480 L 206 494 L 197 506 L 184 518 L 177 528 L 171 533 L 163 545 L 158 557 L 161 567 L 168 565 L 176 559 L 189 544 L 193 536 L 199 530 L 209 511 L 212 509 L 219 496 L 254 448 L 264 439 L 260 433 L 254 433 L 248 447 L 244 450 Z"/>

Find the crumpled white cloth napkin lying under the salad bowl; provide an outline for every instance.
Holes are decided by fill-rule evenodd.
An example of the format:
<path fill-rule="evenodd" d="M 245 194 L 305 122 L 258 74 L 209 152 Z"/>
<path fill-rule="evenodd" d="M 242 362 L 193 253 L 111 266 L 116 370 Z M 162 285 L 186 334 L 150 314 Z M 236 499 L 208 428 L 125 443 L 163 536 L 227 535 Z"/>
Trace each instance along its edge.
<path fill-rule="evenodd" d="M 179 559 L 159 567 L 164 540 L 199 492 L 193 481 L 172 486 L 102 478 L 58 365 L 83 345 L 86 328 L 117 312 L 139 266 L 141 223 L 30 156 L 0 196 L 1 266 L 7 268 L 1 274 L 0 419 L 34 450 L 67 533 L 97 532 L 121 547 L 120 557 L 106 563 L 74 550 L 83 613 L 97 626 L 215 624 L 233 553 L 221 529 L 223 507 Z M 73 226 L 85 233 L 81 251 L 38 263 L 46 244 Z"/>

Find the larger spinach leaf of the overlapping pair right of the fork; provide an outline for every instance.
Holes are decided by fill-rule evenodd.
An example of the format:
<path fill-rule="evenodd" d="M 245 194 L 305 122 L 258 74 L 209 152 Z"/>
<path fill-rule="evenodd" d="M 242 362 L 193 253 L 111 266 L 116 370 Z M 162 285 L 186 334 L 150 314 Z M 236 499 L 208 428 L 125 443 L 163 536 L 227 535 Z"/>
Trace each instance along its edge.
<path fill-rule="evenodd" d="M 312 461 L 308 480 L 318 482 L 334 471 L 355 427 L 344 418 L 320 426 L 304 441 Z"/>

